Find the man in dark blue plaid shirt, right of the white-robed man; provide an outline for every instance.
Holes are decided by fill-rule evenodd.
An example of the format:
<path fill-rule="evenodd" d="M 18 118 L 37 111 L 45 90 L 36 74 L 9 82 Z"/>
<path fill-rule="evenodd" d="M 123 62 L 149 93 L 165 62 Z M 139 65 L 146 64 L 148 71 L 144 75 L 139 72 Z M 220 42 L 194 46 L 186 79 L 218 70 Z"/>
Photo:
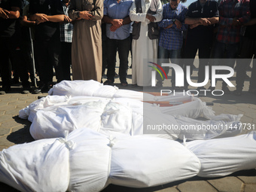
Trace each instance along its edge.
<path fill-rule="evenodd" d="M 184 20 L 187 8 L 180 4 L 180 0 L 170 0 L 163 5 L 163 20 L 158 23 L 160 27 L 160 38 L 158 47 L 159 59 L 171 59 L 172 63 L 179 64 L 181 58 L 181 47 L 183 44 L 183 31 L 187 30 Z M 163 67 L 166 74 L 169 67 Z M 157 78 L 157 87 L 162 87 L 163 81 Z M 175 84 L 175 72 L 172 70 L 172 87 Z"/>

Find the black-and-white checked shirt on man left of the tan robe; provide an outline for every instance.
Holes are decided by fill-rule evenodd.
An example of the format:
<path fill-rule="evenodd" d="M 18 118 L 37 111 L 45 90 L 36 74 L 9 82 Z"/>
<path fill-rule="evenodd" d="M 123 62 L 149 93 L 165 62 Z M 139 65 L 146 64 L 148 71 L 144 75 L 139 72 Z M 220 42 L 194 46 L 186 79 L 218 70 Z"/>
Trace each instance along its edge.
<path fill-rule="evenodd" d="M 62 2 L 63 12 L 66 16 L 69 16 L 69 6 L 67 7 L 64 2 Z M 62 23 L 59 25 L 60 41 L 66 43 L 72 43 L 73 36 L 73 24 L 72 23 Z"/>

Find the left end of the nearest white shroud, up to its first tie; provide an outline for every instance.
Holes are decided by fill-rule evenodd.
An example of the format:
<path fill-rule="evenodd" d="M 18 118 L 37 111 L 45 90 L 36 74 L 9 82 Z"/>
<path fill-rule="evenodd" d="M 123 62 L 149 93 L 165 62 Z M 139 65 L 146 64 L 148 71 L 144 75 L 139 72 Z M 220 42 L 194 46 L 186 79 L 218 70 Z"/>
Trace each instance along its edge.
<path fill-rule="evenodd" d="M 0 181 L 20 191 L 66 191 L 69 174 L 69 149 L 57 139 L 0 152 Z"/>

